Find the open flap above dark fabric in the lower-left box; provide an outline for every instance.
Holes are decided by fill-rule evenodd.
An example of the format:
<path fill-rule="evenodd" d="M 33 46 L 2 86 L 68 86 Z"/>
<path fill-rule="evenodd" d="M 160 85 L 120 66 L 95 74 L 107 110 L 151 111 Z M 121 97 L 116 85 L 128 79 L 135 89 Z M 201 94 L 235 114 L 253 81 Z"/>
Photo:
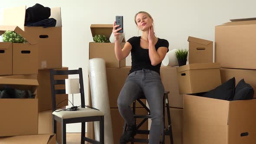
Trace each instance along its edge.
<path fill-rule="evenodd" d="M 37 79 L 9 79 L 1 78 L 0 79 L 0 88 L 9 86 L 11 88 L 18 88 L 21 90 L 31 90 L 34 92 L 38 86 Z"/>

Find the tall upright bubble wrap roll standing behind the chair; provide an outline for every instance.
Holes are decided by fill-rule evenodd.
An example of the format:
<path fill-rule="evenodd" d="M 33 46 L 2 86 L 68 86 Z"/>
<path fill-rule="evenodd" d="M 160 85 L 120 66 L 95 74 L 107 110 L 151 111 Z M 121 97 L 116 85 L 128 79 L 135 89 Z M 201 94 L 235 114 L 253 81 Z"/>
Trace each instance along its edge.
<path fill-rule="evenodd" d="M 89 79 L 92 94 L 92 107 L 98 108 L 104 115 L 104 143 L 114 144 L 110 106 L 108 99 L 108 84 L 105 61 L 101 58 L 89 59 Z M 99 141 L 99 121 L 94 122 L 95 139 Z"/>

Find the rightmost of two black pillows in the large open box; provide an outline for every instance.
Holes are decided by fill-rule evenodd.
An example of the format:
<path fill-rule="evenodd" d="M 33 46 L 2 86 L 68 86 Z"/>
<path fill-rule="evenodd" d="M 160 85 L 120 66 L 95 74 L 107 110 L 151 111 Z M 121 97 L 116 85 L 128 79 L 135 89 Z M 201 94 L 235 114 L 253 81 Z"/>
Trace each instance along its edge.
<path fill-rule="evenodd" d="M 247 100 L 253 99 L 254 90 L 253 87 L 247 84 L 244 79 L 240 80 L 236 85 L 235 95 L 233 100 Z"/>

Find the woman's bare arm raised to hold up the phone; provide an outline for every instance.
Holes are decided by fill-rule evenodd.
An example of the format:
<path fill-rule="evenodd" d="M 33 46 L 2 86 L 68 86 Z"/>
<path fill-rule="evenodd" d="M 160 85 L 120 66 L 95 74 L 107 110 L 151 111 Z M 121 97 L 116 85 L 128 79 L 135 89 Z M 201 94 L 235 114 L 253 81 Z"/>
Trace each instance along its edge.
<path fill-rule="evenodd" d="M 121 48 L 120 42 L 119 42 L 119 37 L 121 33 L 118 33 L 118 31 L 121 29 L 115 29 L 116 27 L 118 27 L 119 25 L 115 26 L 115 23 L 113 25 L 113 34 L 115 36 L 115 57 L 116 59 L 118 59 L 118 61 L 125 59 L 129 53 L 131 52 L 131 44 L 129 42 L 125 43 L 124 48 Z"/>

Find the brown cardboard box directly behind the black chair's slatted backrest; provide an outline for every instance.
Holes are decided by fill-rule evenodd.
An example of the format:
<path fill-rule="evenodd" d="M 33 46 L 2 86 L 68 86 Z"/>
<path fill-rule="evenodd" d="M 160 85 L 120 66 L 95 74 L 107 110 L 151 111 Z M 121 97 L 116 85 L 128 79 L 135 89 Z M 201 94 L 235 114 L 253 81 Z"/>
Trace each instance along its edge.
<path fill-rule="evenodd" d="M 55 70 L 68 70 L 67 67 Z M 38 71 L 38 83 L 37 98 L 38 98 L 38 111 L 46 111 L 52 109 L 52 91 L 51 91 L 51 79 L 50 70 L 41 69 Z M 54 79 L 68 79 L 68 75 L 55 75 Z M 65 89 L 65 85 L 55 85 L 56 89 Z M 56 95 L 57 108 L 68 105 L 68 95 Z M 65 101 L 66 100 L 66 101 Z M 62 102 L 61 102 L 62 101 Z M 60 103 L 61 102 L 61 103 Z"/>

